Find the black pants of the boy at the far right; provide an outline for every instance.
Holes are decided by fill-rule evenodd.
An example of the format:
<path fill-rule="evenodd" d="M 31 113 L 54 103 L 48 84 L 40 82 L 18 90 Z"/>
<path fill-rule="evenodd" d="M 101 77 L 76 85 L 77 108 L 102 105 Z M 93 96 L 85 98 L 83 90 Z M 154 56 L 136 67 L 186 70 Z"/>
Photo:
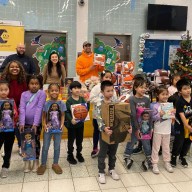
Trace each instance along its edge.
<path fill-rule="evenodd" d="M 185 157 L 190 149 L 191 140 L 185 138 L 184 130 L 175 131 L 175 139 L 173 142 L 172 155 L 180 157 Z"/>

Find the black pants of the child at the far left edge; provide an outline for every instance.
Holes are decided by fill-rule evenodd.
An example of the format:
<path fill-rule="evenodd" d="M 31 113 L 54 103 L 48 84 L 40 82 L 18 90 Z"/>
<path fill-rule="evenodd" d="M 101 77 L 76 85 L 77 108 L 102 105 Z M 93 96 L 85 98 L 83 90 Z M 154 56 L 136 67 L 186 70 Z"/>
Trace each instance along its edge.
<path fill-rule="evenodd" d="M 4 168 L 9 168 L 10 166 L 10 159 L 11 159 L 14 140 L 15 140 L 14 132 L 0 133 L 0 149 L 4 144 L 5 155 L 3 157 L 3 165 L 2 165 L 2 167 Z"/>

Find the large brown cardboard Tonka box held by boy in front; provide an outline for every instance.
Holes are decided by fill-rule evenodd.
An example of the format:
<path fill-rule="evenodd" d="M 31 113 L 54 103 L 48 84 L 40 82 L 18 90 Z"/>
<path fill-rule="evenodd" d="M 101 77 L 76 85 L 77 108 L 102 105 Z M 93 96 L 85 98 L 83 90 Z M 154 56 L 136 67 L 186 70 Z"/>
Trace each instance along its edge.
<path fill-rule="evenodd" d="M 102 132 L 102 139 L 108 144 L 130 141 L 130 105 L 129 103 L 103 103 L 101 106 L 101 115 L 107 127 L 111 127 L 113 133 L 111 136 Z"/>

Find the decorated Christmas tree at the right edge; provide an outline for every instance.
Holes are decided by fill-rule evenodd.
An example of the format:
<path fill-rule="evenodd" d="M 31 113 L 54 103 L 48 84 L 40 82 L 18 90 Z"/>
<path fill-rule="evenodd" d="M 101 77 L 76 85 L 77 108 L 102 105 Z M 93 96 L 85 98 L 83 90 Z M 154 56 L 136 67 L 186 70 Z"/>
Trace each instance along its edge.
<path fill-rule="evenodd" d="M 171 74 L 180 74 L 181 77 L 192 80 L 192 41 L 189 31 L 181 37 L 180 48 L 176 53 L 177 60 L 173 61 L 170 66 Z"/>

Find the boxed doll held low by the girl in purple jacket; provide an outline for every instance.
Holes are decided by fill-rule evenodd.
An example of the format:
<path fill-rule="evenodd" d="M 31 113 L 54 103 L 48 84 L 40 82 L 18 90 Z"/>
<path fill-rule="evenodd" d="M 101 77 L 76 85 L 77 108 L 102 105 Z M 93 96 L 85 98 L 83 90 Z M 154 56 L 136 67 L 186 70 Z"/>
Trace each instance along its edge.
<path fill-rule="evenodd" d="M 24 161 L 36 160 L 35 132 L 30 127 L 21 133 L 21 151 Z"/>

